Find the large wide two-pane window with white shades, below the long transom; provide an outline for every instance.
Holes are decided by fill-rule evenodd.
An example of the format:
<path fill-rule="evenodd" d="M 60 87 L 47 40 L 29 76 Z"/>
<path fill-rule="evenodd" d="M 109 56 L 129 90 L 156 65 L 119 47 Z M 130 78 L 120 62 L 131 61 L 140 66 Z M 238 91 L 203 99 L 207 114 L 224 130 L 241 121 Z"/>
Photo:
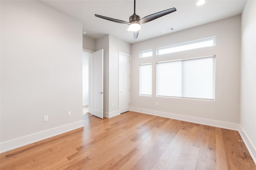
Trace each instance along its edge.
<path fill-rule="evenodd" d="M 214 100 L 215 56 L 159 62 L 157 96 Z"/>

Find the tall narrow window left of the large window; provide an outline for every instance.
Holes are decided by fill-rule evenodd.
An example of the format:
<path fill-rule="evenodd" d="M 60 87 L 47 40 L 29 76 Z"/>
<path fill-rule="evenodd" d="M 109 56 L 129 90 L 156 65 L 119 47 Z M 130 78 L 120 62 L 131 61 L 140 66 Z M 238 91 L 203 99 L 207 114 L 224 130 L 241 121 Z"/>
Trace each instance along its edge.
<path fill-rule="evenodd" d="M 140 64 L 140 95 L 152 95 L 152 63 Z"/>

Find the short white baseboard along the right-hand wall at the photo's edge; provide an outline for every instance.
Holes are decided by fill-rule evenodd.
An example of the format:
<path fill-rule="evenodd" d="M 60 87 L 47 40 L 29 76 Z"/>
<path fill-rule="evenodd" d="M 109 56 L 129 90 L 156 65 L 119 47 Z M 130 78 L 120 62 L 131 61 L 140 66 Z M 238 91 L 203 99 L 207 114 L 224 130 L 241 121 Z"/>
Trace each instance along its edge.
<path fill-rule="evenodd" d="M 239 132 L 240 136 L 242 137 L 244 144 L 246 145 L 246 148 L 250 152 L 250 155 L 252 156 L 254 163 L 256 164 L 256 148 L 255 148 L 256 146 L 253 145 L 253 143 L 250 141 L 250 139 L 248 138 L 247 134 L 245 133 L 245 131 L 241 125 L 239 126 L 238 132 Z"/>

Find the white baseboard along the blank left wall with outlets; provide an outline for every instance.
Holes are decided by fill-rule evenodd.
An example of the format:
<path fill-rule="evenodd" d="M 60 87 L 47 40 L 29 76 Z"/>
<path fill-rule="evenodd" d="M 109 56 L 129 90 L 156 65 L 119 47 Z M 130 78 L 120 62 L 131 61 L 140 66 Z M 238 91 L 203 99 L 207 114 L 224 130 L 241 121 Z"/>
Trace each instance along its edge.
<path fill-rule="evenodd" d="M 37 141 L 41 141 L 56 135 L 60 135 L 62 133 L 66 133 L 68 131 L 78 129 L 80 127 L 84 127 L 84 121 L 70 123 L 68 125 L 55 127 L 52 129 L 48 129 L 46 131 L 41 131 L 41 132 L 27 135 L 24 137 L 12 139 L 10 141 L 5 141 L 0 143 L 0 153 L 7 152 L 9 150 L 16 149 L 16 148 L 19 148 Z"/>

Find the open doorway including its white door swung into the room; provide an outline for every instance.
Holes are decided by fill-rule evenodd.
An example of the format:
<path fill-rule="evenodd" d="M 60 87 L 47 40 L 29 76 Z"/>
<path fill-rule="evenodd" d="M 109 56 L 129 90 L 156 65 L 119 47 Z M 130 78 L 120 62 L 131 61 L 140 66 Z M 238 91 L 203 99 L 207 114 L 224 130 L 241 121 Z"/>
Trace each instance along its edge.
<path fill-rule="evenodd" d="M 103 119 L 103 49 L 83 49 L 82 63 L 83 113 Z"/>

